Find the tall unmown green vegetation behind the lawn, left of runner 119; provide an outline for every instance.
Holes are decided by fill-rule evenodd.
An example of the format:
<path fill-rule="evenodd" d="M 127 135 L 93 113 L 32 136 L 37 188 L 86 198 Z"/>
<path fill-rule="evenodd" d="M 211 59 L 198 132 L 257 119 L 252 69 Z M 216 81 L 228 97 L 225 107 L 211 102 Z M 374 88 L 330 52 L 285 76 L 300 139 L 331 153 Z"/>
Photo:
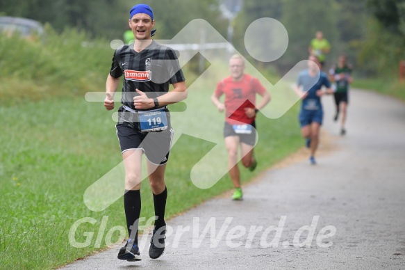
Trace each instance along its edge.
<path fill-rule="evenodd" d="M 58 35 L 49 25 L 46 41 L 0 35 L 0 98 L 6 104 L 104 90 L 113 49 L 83 31 Z M 100 77 L 99 74 L 106 74 Z"/>

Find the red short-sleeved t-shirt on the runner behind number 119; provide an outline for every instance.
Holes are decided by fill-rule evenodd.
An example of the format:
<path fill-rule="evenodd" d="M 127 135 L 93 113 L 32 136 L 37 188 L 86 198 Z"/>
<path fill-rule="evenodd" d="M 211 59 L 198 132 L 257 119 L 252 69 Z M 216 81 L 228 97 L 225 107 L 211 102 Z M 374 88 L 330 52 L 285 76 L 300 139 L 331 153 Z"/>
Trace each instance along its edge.
<path fill-rule="evenodd" d="M 233 81 L 232 77 L 227 77 L 217 84 L 215 96 L 225 95 L 225 120 L 230 125 L 237 125 L 238 122 L 251 124 L 253 118 L 248 118 L 245 108 L 256 108 L 256 93 L 262 95 L 265 88 L 258 79 L 244 74 L 240 81 Z"/>

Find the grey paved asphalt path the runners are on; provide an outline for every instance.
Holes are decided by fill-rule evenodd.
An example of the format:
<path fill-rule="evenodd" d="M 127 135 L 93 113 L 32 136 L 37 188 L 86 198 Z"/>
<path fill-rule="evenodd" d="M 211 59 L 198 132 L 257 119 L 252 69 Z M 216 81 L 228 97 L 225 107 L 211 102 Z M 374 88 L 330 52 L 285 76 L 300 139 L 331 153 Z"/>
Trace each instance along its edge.
<path fill-rule="evenodd" d="M 174 232 L 158 260 L 149 259 L 148 235 L 140 262 L 117 260 L 115 246 L 65 268 L 405 269 L 405 104 L 351 94 L 345 137 L 332 121 L 332 98 L 324 97 L 329 135 L 317 166 L 305 155 L 245 186 L 243 201 L 226 194 L 170 220 Z"/>

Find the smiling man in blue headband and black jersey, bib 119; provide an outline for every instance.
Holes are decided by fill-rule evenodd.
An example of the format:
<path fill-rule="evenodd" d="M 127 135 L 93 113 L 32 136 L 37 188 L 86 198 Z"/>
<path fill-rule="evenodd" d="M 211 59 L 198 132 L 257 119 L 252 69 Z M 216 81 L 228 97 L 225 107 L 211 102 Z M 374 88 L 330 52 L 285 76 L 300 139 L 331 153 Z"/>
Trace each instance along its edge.
<path fill-rule="evenodd" d="M 154 13 L 149 6 L 138 4 L 131 8 L 129 26 L 135 42 L 115 51 L 106 82 L 104 106 L 112 110 L 119 77 L 124 74 L 122 106 L 116 127 L 125 167 L 124 209 L 129 239 L 119 250 L 120 260 L 140 260 L 138 219 L 143 153 L 147 156 L 147 173 L 157 216 L 149 257 L 156 259 L 165 250 L 167 189 L 164 175 L 173 135 L 167 105 L 184 100 L 187 86 L 174 50 L 152 40 L 154 25 Z M 170 84 L 174 89 L 169 92 Z"/>

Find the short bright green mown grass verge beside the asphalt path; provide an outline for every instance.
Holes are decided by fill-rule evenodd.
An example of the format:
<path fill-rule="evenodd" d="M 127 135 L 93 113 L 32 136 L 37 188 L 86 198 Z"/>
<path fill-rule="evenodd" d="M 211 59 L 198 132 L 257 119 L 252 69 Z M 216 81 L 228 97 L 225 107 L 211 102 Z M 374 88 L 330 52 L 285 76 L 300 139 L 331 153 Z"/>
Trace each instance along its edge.
<path fill-rule="evenodd" d="M 196 101 L 198 102 L 198 101 Z M 106 232 L 125 225 L 122 200 L 104 212 L 91 212 L 83 203 L 83 193 L 95 180 L 121 161 L 114 123 L 101 104 L 83 99 L 51 100 L 1 108 L 1 202 L 0 265 L 6 269 L 52 269 L 92 253 L 103 216 L 108 216 Z M 247 182 L 274 162 L 299 148 L 302 141 L 297 111 L 290 110 L 278 120 L 258 118 L 261 140 L 256 146 L 258 169 L 242 169 Z M 210 189 L 198 189 L 190 181 L 190 169 L 213 143 L 182 135 L 174 145 L 167 166 L 167 216 L 173 216 L 223 191 L 231 189 L 226 175 Z M 212 168 L 207 168 L 210 170 Z M 117 179 L 117 181 L 123 181 Z M 142 185 L 142 214 L 153 216 L 149 185 Z M 69 245 L 68 232 L 83 217 L 97 220 L 83 224 L 84 232 L 94 232 L 86 248 Z M 112 241 L 117 241 L 117 235 Z M 104 246 L 104 240 L 101 245 Z"/>

